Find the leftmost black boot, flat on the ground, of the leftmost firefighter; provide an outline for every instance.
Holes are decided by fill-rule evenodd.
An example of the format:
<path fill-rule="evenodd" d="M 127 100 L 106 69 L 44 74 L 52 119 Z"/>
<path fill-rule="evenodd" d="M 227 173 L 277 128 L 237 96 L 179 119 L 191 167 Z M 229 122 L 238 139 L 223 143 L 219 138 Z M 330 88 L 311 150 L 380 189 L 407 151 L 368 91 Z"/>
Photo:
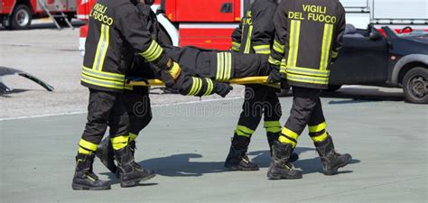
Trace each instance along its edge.
<path fill-rule="evenodd" d="M 94 154 L 81 154 L 76 156 L 76 172 L 74 172 L 72 189 L 82 190 L 104 190 L 110 189 L 110 181 L 99 180 L 98 176 L 92 171 Z"/>

